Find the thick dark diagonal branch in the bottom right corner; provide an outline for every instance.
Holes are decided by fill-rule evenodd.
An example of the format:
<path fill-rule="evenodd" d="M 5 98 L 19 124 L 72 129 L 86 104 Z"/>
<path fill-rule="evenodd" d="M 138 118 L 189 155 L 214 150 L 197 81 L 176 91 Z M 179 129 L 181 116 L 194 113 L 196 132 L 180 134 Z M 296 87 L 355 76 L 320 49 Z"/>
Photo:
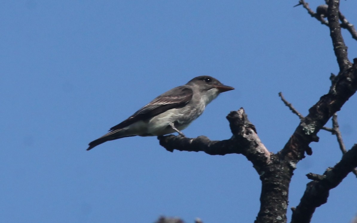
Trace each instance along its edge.
<path fill-rule="evenodd" d="M 324 177 L 315 179 L 306 185 L 300 204 L 292 214 L 291 223 L 309 223 L 317 207 L 327 202 L 329 192 L 357 167 L 357 144 L 342 156 L 334 167 L 327 168 Z"/>

